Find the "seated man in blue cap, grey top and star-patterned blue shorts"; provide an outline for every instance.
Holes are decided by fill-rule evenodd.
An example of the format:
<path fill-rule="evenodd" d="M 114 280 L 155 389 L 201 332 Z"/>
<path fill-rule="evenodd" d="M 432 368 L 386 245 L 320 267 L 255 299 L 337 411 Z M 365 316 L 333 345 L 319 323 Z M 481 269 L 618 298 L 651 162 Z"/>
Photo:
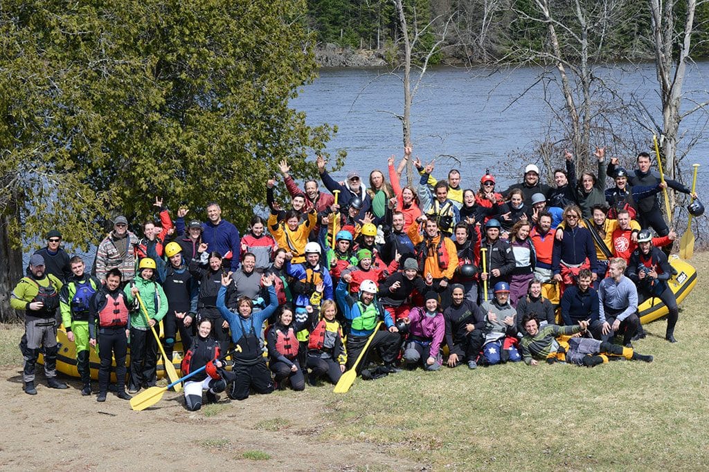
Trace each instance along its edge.
<path fill-rule="evenodd" d="M 497 282 L 495 296 L 480 306 L 485 313 L 483 357 L 488 365 L 522 360 L 517 349 L 517 312 L 510 305 L 510 284 Z"/>

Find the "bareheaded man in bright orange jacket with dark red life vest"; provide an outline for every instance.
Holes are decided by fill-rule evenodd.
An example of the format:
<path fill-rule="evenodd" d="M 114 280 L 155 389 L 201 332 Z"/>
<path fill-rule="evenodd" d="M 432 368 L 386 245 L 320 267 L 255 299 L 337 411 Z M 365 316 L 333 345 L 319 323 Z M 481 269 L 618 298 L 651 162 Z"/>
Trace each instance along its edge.
<path fill-rule="evenodd" d="M 427 219 L 425 215 L 419 219 L 425 221 L 423 234 L 418 233 L 416 225 L 411 225 L 408 236 L 416 245 L 421 275 L 432 280 L 433 289 L 440 294 L 441 305 L 446 308 L 450 305 L 449 284 L 458 267 L 458 252 L 452 239 L 441 234 L 435 219 Z"/>

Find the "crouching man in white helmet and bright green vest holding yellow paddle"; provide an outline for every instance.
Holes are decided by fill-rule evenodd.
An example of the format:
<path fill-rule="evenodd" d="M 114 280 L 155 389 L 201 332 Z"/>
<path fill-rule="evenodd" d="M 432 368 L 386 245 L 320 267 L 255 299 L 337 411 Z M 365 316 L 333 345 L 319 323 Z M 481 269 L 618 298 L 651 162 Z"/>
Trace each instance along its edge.
<path fill-rule="evenodd" d="M 365 280 L 359 287 L 359 294 L 350 294 L 347 290 L 347 282 L 340 279 L 335 289 L 337 304 L 342 308 L 342 315 L 345 316 L 350 326 L 350 333 L 347 335 L 347 368 L 351 369 L 359 354 L 367 344 L 369 336 L 374 333 L 377 322 L 384 320 L 386 330 L 378 330 L 374 333 L 372 343 L 369 343 L 367 352 L 362 356 L 362 362 L 357 364 L 357 372 L 367 365 L 369 350 L 376 349 L 379 356 L 384 361 L 386 372 L 398 372 L 395 367 L 396 357 L 401 346 L 401 336 L 394 326 L 394 321 L 389 312 L 384 310 L 379 300 L 376 299 L 376 284 L 372 280 Z"/>

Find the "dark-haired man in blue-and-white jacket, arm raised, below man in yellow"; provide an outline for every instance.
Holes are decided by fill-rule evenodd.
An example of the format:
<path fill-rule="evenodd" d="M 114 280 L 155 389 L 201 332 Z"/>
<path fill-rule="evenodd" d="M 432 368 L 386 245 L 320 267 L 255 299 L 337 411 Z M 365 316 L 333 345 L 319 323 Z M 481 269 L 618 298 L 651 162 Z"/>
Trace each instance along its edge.
<path fill-rule="evenodd" d="M 421 202 L 421 211 L 428 219 L 435 220 L 438 229 L 445 236 L 453 234 L 453 228 L 460 221 L 459 206 L 462 205 L 462 192 L 460 202 L 454 202 L 448 198 L 448 183 L 437 182 L 433 187 L 433 192 L 428 188 L 428 176 L 433 171 L 433 162 L 428 163 L 425 168 L 421 167 L 421 162 L 417 158 L 415 162 L 416 168 L 421 174 L 421 180 L 418 183 L 418 200 Z M 413 239 L 412 239 L 413 241 Z"/>

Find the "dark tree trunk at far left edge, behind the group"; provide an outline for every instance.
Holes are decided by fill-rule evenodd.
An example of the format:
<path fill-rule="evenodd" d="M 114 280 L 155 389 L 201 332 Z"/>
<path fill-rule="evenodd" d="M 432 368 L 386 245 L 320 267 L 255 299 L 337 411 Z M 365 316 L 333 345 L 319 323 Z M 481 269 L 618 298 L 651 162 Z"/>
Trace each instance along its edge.
<path fill-rule="evenodd" d="M 10 308 L 10 295 L 22 277 L 22 250 L 13 246 L 9 231 L 11 221 L 17 217 L 17 200 L 11 201 L 6 213 L 0 217 L 0 322 L 18 320 L 18 313 Z"/>

